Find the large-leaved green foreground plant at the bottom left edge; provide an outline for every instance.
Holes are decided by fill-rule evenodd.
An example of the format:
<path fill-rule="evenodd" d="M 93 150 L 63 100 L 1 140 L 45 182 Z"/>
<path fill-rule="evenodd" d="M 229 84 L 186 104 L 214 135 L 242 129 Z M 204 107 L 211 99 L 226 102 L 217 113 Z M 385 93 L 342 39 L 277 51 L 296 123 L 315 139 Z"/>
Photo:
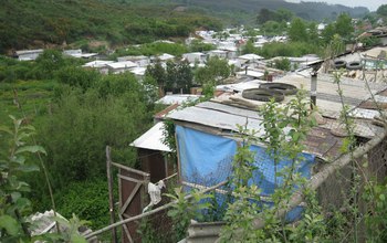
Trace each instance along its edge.
<path fill-rule="evenodd" d="M 76 241 L 86 242 L 79 233 L 84 221 L 73 215 L 70 222 L 61 220 L 65 230 L 57 233 L 32 235 L 31 231 L 39 225 L 30 219 L 33 213 L 31 201 L 27 193 L 30 186 L 21 178 L 25 173 L 39 171 L 39 166 L 32 162 L 31 155 L 46 155 L 43 147 L 30 145 L 28 141 L 34 135 L 34 127 L 23 125 L 23 119 L 10 116 L 13 127 L 0 126 L 0 137 L 3 141 L 0 155 L 0 239 L 2 242 L 43 241 Z M 32 139 L 34 140 L 34 139 Z M 43 168 L 45 170 L 45 168 Z M 57 219 L 55 219 L 56 221 Z"/>

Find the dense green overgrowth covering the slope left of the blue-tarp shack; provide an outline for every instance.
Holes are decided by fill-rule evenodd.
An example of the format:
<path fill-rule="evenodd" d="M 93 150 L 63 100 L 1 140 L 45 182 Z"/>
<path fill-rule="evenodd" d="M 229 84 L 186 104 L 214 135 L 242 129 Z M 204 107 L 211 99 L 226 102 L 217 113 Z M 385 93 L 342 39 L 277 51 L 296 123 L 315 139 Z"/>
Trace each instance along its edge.
<path fill-rule="evenodd" d="M 157 86 L 150 80 L 139 83 L 129 74 L 102 76 L 80 64 L 52 50 L 35 62 L 2 57 L 0 115 L 25 117 L 23 123 L 36 127 L 35 139 L 48 151 L 42 159 L 50 171 L 59 212 L 71 218 L 75 212 L 72 210 L 82 205 L 76 213 L 95 229 L 107 223 L 102 208 L 107 201 L 100 205 L 103 193 L 107 193 L 107 188 L 102 187 L 105 146 L 113 147 L 116 161 L 137 167 L 137 156 L 129 144 L 151 125 Z M 18 70 L 22 72 L 14 72 Z M 3 144 L 0 148 L 6 149 Z M 51 210 L 42 172 L 21 178 L 32 186 L 27 194 L 33 199 L 31 210 Z M 100 198 L 83 191 L 83 183 L 92 183 L 87 181 L 98 184 Z M 87 203 L 70 200 L 74 194 Z"/>

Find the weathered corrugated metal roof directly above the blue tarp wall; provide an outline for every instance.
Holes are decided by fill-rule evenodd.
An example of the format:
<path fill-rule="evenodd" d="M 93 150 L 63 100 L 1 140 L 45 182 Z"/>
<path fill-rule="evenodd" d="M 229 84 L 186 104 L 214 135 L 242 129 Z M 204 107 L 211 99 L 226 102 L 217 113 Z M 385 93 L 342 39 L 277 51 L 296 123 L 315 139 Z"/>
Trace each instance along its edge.
<path fill-rule="evenodd" d="M 303 77 L 296 74 L 280 78 L 278 82 L 293 84 L 305 89 L 308 89 L 311 86 L 310 77 Z M 367 88 L 365 88 L 365 83 L 344 78 L 341 85 L 344 92 L 344 102 L 353 108 L 352 116 L 360 118 L 355 119 L 355 134 L 365 138 L 374 137 L 378 133 L 378 128 L 372 124 L 370 119 L 374 118 L 377 112 L 356 108 L 363 101 L 367 101 L 370 97 Z M 372 84 L 373 94 L 378 94 L 386 88 L 387 85 Z M 377 101 L 387 102 L 387 98 L 380 94 L 376 96 Z M 249 108 L 232 104 L 236 99 L 242 99 L 249 103 Z M 292 96 L 286 96 L 283 103 L 287 103 L 291 99 Z M 196 106 L 176 110 L 167 117 L 179 120 L 180 123 L 211 127 L 215 128 L 215 131 L 219 130 L 222 131 L 220 134 L 224 136 L 230 135 L 231 137 L 233 133 L 238 133 L 238 125 L 243 126 L 247 124 L 247 128 L 257 131 L 255 136 L 260 137 L 264 130 L 261 125 L 262 119 L 255 109 L 263 104 L 264 102 L 243 99 L 240 93 L 224 94 L 211 102 L 205 102 Z M 317 107 L 326 117 L 325 124 L 313 128 L 307 136 L 305 141 L 307 147 L 306 152 L 312 152 L 323 158 L 335 158 L 339 155 L 339 147 L 343 139 L 335 133 L 343 129 L 338 120 L 342 103 L 337 95 L 337 84 L 333 83 L 332 76 L 323 75 L 321 80 L 317 80 Z M 328 119 L 327 117 L 331 118 Z"/>

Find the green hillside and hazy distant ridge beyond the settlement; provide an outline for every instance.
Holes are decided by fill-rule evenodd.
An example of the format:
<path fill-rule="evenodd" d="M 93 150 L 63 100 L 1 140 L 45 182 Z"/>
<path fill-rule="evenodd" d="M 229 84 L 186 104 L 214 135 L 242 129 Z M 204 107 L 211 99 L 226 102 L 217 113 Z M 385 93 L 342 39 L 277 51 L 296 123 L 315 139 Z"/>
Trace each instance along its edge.
<path fill-rule="evenodd" d="M 107 45 L 181 39 L 198 28 L 255 23 L 263 8 L 287 9 L 306 20 L 368 12 L 366 8 L 283 0 L 2 0 L 0 54 L 67 44 L 101 51 Z"/>

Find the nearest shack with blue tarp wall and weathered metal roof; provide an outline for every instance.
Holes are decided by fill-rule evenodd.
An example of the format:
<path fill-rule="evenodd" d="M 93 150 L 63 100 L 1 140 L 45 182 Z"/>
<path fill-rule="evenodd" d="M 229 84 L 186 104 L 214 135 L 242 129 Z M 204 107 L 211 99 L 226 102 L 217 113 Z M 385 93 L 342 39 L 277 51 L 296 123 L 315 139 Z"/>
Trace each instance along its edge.
<path fill-rule="evenodd" d="M 341 156 L 343 136 L 338 117 L 341 115 L 341 98 L 336 93 L 332 75 L 322 75 L 317 82 L 316 105 L 323 122 L 314 127 L 307 135 L 303 151 L 304 160 L 299 163 L 296 172 L 310 179 L 318 171 L 323 161 L 334 161 Z M 311 77 L 304 74 L 291 74 L 278 82 L 292 84 L 297 88 L 311 89 Z M 259 84 L 258 84 L 259 85 Z M 343 78 L 344 102 L 352 108 L 355 118 L 355 134 L 359 140 L 369 140 L 384 128 L 373 124 L 377 113 L 364 108 L 362 104 L 374 95 L 378 101 L 387 102 L 383 91 L 386 84 L 370 84 L 370 93 L 365 88 L 366 83 L 358 80 Z M 258 87 L 258 86 L 257 86 Z M 290 102 L 285 97 L 283 103 Z M 249 105 L 247 105 L 249 104 Z M 252 105 L 251 105 L 252 104 Z M 177 110 L 168 118 L 176 125 L 176 139 L 178 144 L 178 168 L 180 182 L 188 188 L 208 188 L 224 181 L 231 173 L 232 159 L 237 148 L 241 145 L 238 126 L 245 126 L 255 130 L 254 136 L 262 137 L 264 128 L 262 117 L 255 112 L 264 102 L 245 99 L 241 93 L 224 93 L 209 102 Z M 286 129 L 286 128 L 284 128 Z M 270 197 L 274 191 L 274 161 L 265 151 L 265 145 L 257 142 L 250 148 L 255 151 L 257 170 L 251 183 L 262 189 L 262 197 Z M 286 167 L 289 161 L 283 160 L 276 167 Z M 281 183 L 281 179 L 280 179 Z M 321 198 L 330 198 L 330 202 L 337 201 L 337 194 L 322 187 Z M 328 194 L 330 197 L 325 197 Z M 287 214 L 295 220 L 302 208 L 296 207 Z"/>

